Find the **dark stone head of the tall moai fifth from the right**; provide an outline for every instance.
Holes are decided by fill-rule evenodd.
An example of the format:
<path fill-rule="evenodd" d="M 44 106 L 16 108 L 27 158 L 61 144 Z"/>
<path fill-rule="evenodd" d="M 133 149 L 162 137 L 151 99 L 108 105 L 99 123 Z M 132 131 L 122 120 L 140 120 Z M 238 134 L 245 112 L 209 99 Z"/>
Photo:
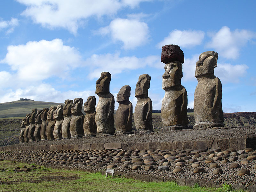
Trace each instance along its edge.
<path fill-rule="evenodd" d="M 100 78 L 96 81 L 95 94 L 109 93 L 110 80 L 111 80 L 111 74 L 109 72 L 102 72 L 100 74 Z"/>

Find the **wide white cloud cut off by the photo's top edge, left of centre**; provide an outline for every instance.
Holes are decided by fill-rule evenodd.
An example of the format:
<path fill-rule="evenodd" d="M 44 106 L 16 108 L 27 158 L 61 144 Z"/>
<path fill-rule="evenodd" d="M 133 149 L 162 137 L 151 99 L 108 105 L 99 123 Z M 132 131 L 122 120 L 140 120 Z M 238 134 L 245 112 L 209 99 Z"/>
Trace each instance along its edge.
<path fill-rule="evenodd" d="M 22 15 L 47 28 L 65 28 L 76 34 L 85 19 L 113 15 L 124 7 L 134 8 L 146 0 L 17 0 L 27 9 Z"/>

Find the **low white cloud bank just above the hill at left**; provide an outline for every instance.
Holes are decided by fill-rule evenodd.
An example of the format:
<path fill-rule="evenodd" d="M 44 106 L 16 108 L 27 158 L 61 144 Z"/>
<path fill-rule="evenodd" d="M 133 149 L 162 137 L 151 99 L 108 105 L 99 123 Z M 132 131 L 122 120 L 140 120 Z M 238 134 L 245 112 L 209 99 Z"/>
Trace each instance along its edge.
<path fill-rule="evenodd" d="M 37 86 L 27 86 L 16 90 L 2 91 L 0 102 L 9 102 L 19 100 L 20 98 L 28 98 L 36 101 L 49 101 L 64 103 L 66 99 L 74 99 L 76 97 L 83 98 L 84 102 L 89 96 L 95 96 L 95 91 L 66 91 L 60 92 L 49 84 L 39 84 Z"/>

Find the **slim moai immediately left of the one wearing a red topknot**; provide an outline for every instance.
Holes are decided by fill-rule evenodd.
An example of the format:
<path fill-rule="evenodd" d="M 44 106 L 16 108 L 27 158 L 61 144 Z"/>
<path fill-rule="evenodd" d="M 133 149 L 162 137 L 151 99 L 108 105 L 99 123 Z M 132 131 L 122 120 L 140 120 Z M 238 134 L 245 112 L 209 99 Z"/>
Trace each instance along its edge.
<path fill-rule="evenodd" d="M 151 77 L 148 74 L 139 76 L 135 88 L 137 104 L 134 108 L 134 123 L 137 131 L 153 132 L 152 126 L 152 101 L 148 97 Z"/>

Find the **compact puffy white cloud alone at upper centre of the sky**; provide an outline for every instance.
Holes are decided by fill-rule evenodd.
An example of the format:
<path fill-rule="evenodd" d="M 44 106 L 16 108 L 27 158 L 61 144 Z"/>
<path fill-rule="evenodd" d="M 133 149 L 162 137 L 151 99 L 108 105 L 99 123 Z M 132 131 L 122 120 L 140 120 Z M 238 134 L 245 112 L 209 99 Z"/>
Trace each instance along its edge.
<path fill-rule="evenodd" d="M 149 37 L 148 25 L 134 19 L 116 18 L 109 26 L 100 28 L 101 35 L 110 34 L 112 40 L 122 41 L 124 49 L 133 49 L 147 43 Z"/>

